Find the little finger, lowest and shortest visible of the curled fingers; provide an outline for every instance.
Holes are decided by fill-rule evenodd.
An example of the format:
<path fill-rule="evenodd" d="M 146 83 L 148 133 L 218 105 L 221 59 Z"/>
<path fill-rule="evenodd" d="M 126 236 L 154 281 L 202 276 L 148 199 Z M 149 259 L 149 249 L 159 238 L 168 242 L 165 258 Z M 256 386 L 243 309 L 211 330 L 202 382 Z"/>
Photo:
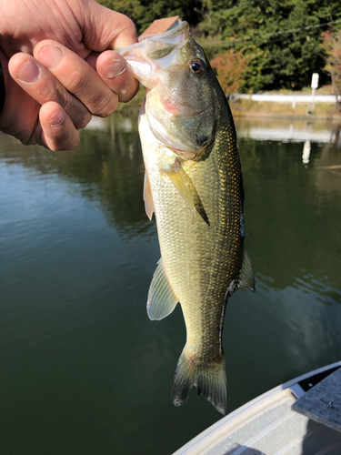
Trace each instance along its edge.
<path fill-rule="evenodd" d="M 51 150 L 71 150 L 79 142 L 79 132 L 65 110 L 54 101 L 39 111 L 41 142 Z"/>

